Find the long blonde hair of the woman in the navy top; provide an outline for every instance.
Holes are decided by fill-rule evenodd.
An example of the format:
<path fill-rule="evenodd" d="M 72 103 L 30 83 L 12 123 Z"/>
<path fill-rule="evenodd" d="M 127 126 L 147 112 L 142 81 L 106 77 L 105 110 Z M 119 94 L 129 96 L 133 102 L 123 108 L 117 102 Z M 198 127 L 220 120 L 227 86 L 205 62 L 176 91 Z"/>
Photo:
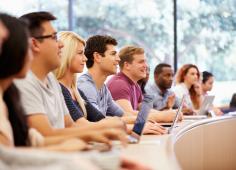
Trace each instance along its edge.
<path fill-rule="evenodd" d="M 62 31 L 59 33 L 59 40 L 62 41 L 64 47 L 62 48 L 61 53 L 61 65 L 54 71 L 54 74 L 57 80 L 62 79 L 65 76 L 67 69 L 71 66 L 72 59 L 77 53 L 77 47 L 79 43 L 85 45 L 85 41 L 79 35 L 71 31 Z M 76 82 L 77 74 L 74 73 L 73 75 L 73 82 L 72 82 L 72 91 L 75 95 L 76 101 L 79 103 L 84 117 L 87 118 L 87 111 L 85 108 L 85 102 L 80 96 L 78 89 L 77 89 L 77 82 Z"/>

